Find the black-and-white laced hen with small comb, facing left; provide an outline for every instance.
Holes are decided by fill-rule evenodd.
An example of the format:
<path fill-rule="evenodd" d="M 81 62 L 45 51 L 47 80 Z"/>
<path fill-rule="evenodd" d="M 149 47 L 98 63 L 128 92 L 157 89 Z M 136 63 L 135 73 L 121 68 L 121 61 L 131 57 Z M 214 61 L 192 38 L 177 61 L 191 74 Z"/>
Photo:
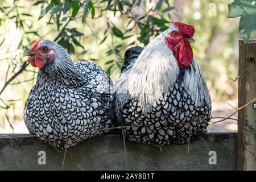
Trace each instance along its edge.
<path fill-rule="evenodd" d="M 73 62 L 63 47 L 47 39 L 31 44 L 25 56 L 39 68 L 24 107 L 24 122 L 31 134 L 63 151 L 109 131 L 113 85 L 101 67 Z"/>

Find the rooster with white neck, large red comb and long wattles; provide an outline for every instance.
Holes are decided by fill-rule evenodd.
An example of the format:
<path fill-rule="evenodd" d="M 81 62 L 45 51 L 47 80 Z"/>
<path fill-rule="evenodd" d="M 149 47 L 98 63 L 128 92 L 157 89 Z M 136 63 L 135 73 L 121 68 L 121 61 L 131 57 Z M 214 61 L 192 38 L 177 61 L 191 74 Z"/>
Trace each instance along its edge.
<path fill-rule="evenodd" d="M 129 140 L 163 147 L 207 130 L 211 101 L 193 57 L 194 32 L 192 25 L 171 23 L 144 49 L 127 49 L 115 113 L 121 125 L 134 126 L 124 129 Z"/>

